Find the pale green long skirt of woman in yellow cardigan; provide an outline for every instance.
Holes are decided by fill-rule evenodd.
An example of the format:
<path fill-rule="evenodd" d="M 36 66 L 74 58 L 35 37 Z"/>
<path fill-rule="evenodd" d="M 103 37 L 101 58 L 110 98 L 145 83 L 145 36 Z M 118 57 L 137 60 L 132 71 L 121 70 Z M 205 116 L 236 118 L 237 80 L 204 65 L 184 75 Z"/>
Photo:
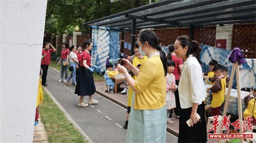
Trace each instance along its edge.
<path fill-rule="evenodd" d="M 166 143 L 166 105 L 160 109 L 137 110 L 129 115 L 126 143 Z"/>

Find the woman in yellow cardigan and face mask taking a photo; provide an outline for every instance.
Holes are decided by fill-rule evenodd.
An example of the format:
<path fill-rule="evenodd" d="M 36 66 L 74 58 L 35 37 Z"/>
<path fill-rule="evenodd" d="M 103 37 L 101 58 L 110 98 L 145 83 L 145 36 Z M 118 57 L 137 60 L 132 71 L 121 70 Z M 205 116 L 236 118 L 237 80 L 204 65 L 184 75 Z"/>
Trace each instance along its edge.
<path fill-rule="evenodd" d="M 129 115 L 126 143 L 166 143 L 166 55 L 153 31 L 139 34 L 140 53 L 148 59 L 140 70 L 126 59 L 125 67 L 137 76 L 136 81 L 120 64 L 129 87 L 135 92 Z"/>

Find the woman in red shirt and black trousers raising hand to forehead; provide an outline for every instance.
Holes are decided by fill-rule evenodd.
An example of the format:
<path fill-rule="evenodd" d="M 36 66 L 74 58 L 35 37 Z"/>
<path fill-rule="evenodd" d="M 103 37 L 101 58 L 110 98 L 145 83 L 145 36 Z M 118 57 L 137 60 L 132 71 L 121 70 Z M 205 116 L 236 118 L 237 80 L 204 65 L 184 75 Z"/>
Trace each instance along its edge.
<path fill-rule="evenodd" d="M 52 49 L 50 48 L 52 47 Z M 46 84 L 46 76 L 48 71 L 48 66 L 51 62 L 51 53 L 55 52 L 56 49 L 52 46 L 49 42 L 44 42 L 43 50 L 42 50 L 42 60 L 41 60 L 41 68 L 43 69 L 43 75 L 42 75 L 42 85 L 44 87 L 47 86 Z"/>

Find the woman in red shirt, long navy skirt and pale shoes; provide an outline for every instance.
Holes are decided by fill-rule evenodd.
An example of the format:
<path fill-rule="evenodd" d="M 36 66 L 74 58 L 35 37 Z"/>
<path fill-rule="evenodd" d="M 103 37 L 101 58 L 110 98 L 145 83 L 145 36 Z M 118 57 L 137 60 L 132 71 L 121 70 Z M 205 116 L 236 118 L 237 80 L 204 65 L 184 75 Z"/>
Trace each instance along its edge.
<path fill-rule="evenodd" d="M 79 70 L 78 83 L 76 84 L 75 94 L 79 95 L 77 106 L 87 107 L 88 104 L 98 104 L 98 101 L 93 99 L 93 94 L 96 92 L 93 79 L 93 70 L 90 68 L 96 65 L 91 64 L 90 50 L 93 48 L 93 42 L 84 41 L 82 44 L 82 56 Z M 88 104 L 84 102 L 84 96 L 89 96 Z"/>

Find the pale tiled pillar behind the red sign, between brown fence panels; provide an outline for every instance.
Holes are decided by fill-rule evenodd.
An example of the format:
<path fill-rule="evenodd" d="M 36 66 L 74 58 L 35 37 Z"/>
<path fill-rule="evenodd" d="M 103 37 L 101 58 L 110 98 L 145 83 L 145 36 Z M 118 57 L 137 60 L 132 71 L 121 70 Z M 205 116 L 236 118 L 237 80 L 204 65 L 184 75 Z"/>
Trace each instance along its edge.
<path fill-rule="evenodd" d="M 233 24 L 216 26 L 216 39 L 227 39 L 227 50 L 231 50 Z"/>

